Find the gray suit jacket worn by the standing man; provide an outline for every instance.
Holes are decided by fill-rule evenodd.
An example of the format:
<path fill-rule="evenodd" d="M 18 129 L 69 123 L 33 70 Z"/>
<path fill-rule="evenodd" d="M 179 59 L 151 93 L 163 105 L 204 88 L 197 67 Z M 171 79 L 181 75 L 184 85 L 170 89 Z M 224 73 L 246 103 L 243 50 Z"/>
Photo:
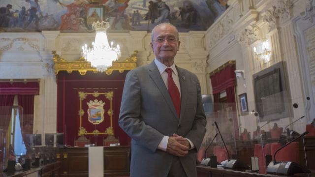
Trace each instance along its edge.
<path fill-rule="evenodd" d="M 180 161 L 188 177 L 196 177 L 195 153 L 206 132 L 199 81 L 193 73 L 177 67 L 181 85 L 178 118 L 168 90 L 154 62 L 128 72 L 119 125 L 132 138 L 130 177 L 167 177 L 173 155 L 158 149 L 163 136 L 176 133 L 195 148 Z"/>

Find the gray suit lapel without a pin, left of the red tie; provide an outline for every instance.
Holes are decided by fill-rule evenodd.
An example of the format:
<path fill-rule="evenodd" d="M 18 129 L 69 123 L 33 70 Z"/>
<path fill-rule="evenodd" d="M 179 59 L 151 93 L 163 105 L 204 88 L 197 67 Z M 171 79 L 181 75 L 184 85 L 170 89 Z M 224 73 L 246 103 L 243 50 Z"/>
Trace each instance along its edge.
<path fill-rule="evenodd" d="M 158 67 L 157 65 L 153 62 L 151 62 L 151 64 L 148 65 L 149 67 L 149 75 L 152 78 L 152 80 L 154 81 L 154 83 L 156 84 L 157 88 L 160 90 L 161 94 L 163 95 L 166 103 L 168 104 L 168 106 L 170 107 L 173 115 L 175 116 L 175 118 L 178 119 L 175 107 L 173 105 L 172 99 L 168 93 L 168 90 L 163 82 L 163 79 L 158 71 Z"/>

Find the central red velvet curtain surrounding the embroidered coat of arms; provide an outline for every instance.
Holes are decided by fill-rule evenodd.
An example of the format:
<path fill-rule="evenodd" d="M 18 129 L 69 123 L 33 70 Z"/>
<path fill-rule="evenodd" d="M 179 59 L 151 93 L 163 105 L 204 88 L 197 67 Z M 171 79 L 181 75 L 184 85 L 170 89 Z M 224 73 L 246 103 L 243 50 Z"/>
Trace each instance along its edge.
<path fill-rule="evenodd" d="M 90 133 L 91 130 L 99 130 L 104 132 L 108 126 L 110 126 L 109 116 L 107 114 L 109 101 L 104 98 L 104 95 L 94 97 L 88 94 L 83 101 L 79 99 L 79 91 L 94 92 L 98 91 L 107 92 L 109 90 L 114 92 L 112 100 L 112 123 L 114 129 L 114 135 L 119 139 L 121 145 L 129 145 L 130 138 L 118 125 L 120 104 L 122 99 L 122 93 L 124 89 L 124 83 L 126 79 L 126 73 L 120 73 L 113 71 L 112 74 L 107 75 L 104 73 L 87 72 L 84 76 L 78 72 L 59 72 L 57 75 L 57 131 L 64 133 L 64 143 L 67 145 L 74 145 L 74 139 L 78 138 L 78 130 L 80 127 L 80 102 L 81 108 L 84 111 L 82 116 L 82 125 Z M 87 102 L 90 100 L 103 100 L 104 105 L 104 121 L 99 124 L 93 124 L 89 122 Z M 97 146 L 103 145 L 103 138 L 107 135 L 86 135 Z"/>

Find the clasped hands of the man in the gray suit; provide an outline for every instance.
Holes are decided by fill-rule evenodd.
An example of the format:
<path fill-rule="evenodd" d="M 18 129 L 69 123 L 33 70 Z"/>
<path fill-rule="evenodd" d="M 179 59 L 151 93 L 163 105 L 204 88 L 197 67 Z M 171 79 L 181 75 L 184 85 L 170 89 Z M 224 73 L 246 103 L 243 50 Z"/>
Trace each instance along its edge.
<path fill-rule="evenodd" d="M 168 138 L 166 152 L 179 157 L 184 157 L 188 154 L 189 148 L 190 144 L 188 140 L 174 133 L 172 137 Z"/>

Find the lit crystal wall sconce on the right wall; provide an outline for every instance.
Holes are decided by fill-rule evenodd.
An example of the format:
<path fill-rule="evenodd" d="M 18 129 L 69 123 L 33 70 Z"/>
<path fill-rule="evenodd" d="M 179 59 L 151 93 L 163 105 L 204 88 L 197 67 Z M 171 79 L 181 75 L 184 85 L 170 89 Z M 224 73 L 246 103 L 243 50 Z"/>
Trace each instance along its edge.
<path fill-rule="evenodd" d="M 256 47 L 253 47 L 252 51 L 255 59 L 263 61 L 263 63 L 270 61 L 271 47 L 268 40 L 265 40 L 262 43 L 259 43 Z"/>

